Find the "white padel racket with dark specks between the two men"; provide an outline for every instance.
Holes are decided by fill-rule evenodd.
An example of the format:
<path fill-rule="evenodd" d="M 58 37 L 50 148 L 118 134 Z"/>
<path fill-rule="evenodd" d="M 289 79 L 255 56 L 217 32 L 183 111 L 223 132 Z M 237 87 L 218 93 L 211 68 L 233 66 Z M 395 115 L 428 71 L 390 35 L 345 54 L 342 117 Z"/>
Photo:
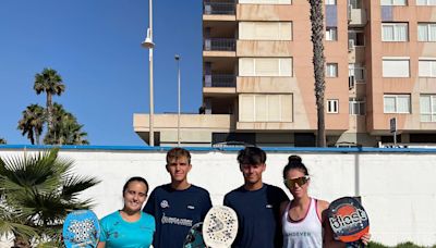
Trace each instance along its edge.
<path fill-rule="evenodd" d="M 228 248 L 238 234 L 238 215 L 233 209 L 215 206 L 203 222 L 203 239 L 207 247 Z"/>

